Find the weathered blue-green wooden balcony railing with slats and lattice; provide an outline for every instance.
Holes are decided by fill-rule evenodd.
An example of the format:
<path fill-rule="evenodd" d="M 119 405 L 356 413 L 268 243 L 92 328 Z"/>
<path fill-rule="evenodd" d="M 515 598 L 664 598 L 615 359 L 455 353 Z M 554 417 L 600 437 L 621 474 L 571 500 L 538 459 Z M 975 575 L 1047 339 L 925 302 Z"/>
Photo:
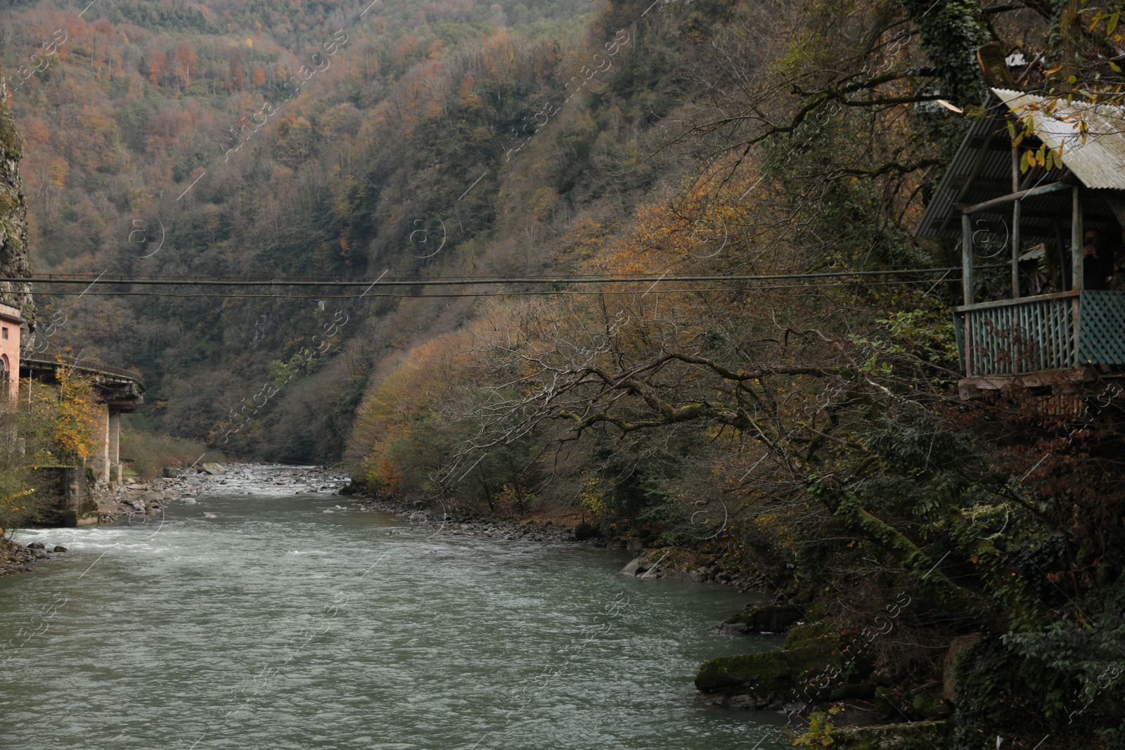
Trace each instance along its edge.
<path fill-rule="evenodd" d="M 953 313 L 970 378 L 1125 364 L 1125 291 L 1064 291 Z"/>

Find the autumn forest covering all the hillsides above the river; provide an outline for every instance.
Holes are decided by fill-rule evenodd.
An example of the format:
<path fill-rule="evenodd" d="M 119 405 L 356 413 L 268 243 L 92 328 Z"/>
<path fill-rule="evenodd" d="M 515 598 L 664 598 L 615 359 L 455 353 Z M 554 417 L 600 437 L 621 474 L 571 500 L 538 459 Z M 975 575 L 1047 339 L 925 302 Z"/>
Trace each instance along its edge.
<path fill-rule="evenodd" d="M 798 743 L 860 697 L 934 747 L 1125 748 L 1119 399 L 960 399 L 962 249 L 915 236 L 989 84 L 1122 103 L 1117 4 L 84 4 L 0 19 L 34 274 L 106 279 L 37 284 L 28 351 L 142 372 L 134 433 L 564 509 L 817 648 L 906 596 Z"/>

